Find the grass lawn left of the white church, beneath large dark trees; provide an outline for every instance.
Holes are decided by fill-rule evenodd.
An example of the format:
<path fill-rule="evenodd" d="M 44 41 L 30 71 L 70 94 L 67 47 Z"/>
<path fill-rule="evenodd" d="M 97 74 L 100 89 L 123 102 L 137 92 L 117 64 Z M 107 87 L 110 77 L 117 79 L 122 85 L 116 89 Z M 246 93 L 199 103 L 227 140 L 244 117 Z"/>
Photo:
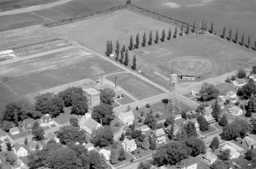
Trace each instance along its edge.
<path fill-rule="evenodd" d="M 82 118 L 82 115 L 70 114 L 71 113 L 71 108 L 72 107 L 63 108 L 64 113 L 61 113 L 59 116 L 54 118 L 54 120 L 61 125 L 61 124 L 64 124 L 64 123 L 68 123 L 69 119 L 72 118 L 72 117 L 77 118 L 77 119 Z"/>

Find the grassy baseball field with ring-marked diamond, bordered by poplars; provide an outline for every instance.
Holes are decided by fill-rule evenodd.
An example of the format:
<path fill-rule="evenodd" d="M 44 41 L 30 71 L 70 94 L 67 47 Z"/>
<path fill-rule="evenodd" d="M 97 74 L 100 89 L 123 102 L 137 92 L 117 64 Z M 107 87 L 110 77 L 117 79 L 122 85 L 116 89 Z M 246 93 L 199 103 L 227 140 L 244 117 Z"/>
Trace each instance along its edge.
<path fill-rule="evenodd" d="M 191 36 L 170 40 L 154 46 L 132 50 L 129 53 L 129 60 L 132 56 L 137 57 L 137 69 L 146 75 L 150 80 L 169 88 L 168 75 L 170 71 L 159 66 L 167 64 L 167 67 L 176 69 L 179 72 L 208 72 L 204 77 L 211 78 L 216 75 L 231 72 L 239 68 L 255 65 L 255 53 L 240 48 L 225 40 L 206 37 Z M 132 66 L 132 62 L 129 62 Z M 224 69 L 220 69 L 225 66 Z"/>

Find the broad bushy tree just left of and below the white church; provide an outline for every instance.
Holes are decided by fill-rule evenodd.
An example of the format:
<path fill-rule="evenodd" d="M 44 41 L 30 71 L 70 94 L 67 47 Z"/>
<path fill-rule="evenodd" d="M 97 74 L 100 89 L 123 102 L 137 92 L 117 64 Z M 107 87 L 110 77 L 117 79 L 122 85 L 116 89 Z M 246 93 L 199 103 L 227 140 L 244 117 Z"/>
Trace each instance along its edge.
<path fill-rule="evenodd" d="M 85 133 L 74 126 L 60 127 L 57 137 L 60 138 L 60 142 L 64 145 L 76 142 L 86 143 Z"/>

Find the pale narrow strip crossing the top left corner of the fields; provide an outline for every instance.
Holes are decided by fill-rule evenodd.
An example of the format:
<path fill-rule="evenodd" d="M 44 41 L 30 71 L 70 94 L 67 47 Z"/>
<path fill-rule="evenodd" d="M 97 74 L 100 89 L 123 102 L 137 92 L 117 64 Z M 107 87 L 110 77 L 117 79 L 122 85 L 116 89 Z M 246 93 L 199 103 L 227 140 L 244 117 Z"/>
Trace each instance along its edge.
<path fill-rule="evenodd" d="M 74 1 L 74 0 L 60 0 L 60 1 L 52 2 L 52 3 L 34 5 L 32 7 L 27 7 L 27 8 L 20 8 L 20 9 L 2 11 L 0 13 L 0 16 L 27 13 L 27 12 L 31 12 L 31 11 L 34 11 L 34 10 L 42 10 L 42 9 L 46 9 L 46 8 L 56 7 L 58 5 L 62 5 L 62 4 L 65 4 L 67 2 L 71 2 L 71 1 Z"/>

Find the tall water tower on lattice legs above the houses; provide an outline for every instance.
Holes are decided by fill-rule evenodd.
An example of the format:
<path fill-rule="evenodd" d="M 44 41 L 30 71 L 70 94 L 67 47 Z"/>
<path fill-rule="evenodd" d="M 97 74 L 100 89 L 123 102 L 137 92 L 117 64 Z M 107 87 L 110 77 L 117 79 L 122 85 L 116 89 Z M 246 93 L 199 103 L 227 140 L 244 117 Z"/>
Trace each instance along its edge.
<path fill-rule="evenodd" d="M 169 107 L 172 111 L 172 114 L 175 110 L 181 112 L 181 104 L 179 103 L 179 92 L 178 92 L 178 75 L 170 74 L 170 95 Z"/>

